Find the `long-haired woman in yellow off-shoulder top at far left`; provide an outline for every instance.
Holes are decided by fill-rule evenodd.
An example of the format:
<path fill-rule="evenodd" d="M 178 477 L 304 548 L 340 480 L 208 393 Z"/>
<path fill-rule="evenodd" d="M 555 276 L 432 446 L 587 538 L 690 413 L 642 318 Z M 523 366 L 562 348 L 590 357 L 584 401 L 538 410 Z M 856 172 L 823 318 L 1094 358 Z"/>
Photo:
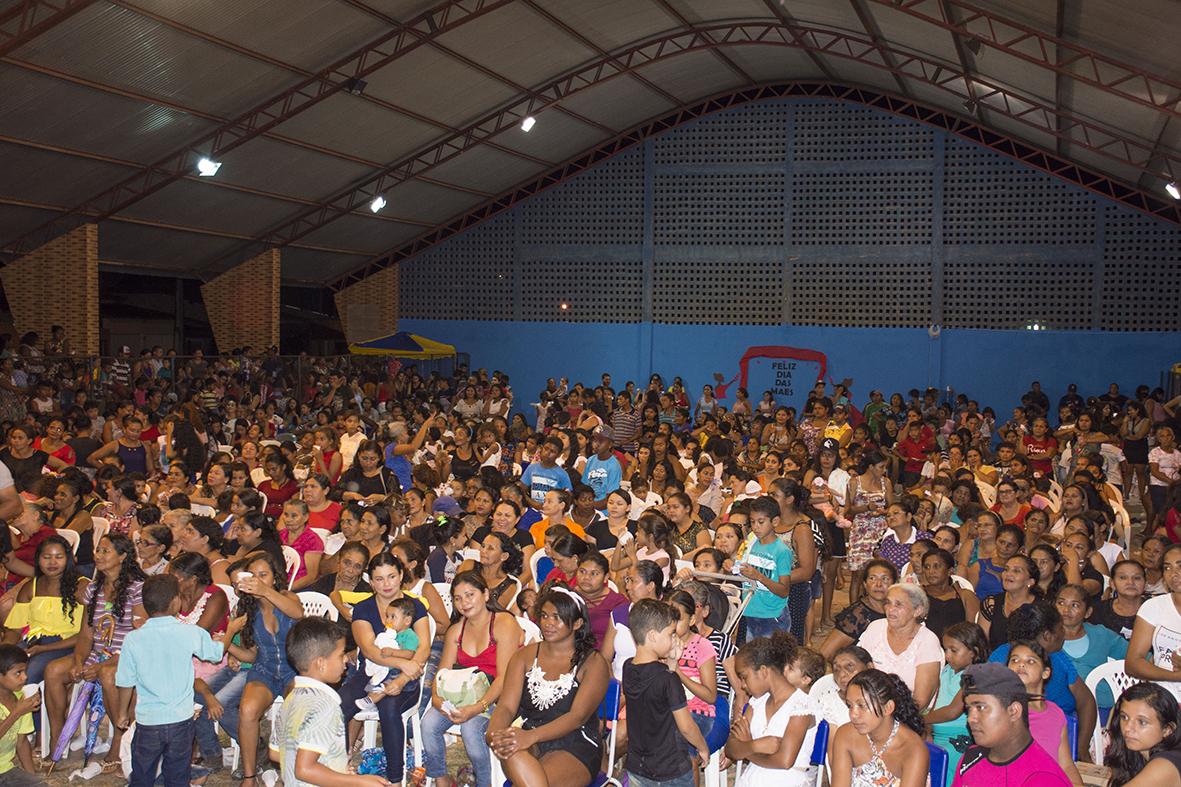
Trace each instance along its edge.
<path fill-rule="evenodd" d="M 60 535 L 37 546 L 33 567 L 33 577 L 17 591 L 4 640 L 20 643 L 28 652 L 28 683 L 40 683 L 50 662 L 73 652 L 90 580 L 78 573 L 73 551 Z"/>

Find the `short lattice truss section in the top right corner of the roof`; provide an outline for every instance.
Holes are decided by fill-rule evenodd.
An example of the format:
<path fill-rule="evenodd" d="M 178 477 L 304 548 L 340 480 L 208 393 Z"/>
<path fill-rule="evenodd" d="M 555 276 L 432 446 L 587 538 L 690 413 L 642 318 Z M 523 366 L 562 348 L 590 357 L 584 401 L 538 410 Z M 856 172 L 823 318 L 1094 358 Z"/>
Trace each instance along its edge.
<path fill-rule="evenodd" d="M 985 11 L 967 0 L 868 0 L 889 6 L 960 35 L 978 40 L 1014 58 L 1051 69 L 1071 79 L 1150 106 L 1181 115 L 1181 82 L 1122 63 L 1061 35 Z M 959 19 L 950 13 L 955 8 Z"/>

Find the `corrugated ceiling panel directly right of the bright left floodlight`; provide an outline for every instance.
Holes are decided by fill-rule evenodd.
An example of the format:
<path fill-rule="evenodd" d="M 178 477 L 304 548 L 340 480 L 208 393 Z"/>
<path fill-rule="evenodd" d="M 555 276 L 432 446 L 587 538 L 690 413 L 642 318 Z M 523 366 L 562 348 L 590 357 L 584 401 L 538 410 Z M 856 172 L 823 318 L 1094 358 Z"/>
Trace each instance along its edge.
<path fill-rule="evenodd" d="M 222 157 L 217 180 L 305 200 L 321 200 L 370 171 L 364 164 L 259 137 Z"/>

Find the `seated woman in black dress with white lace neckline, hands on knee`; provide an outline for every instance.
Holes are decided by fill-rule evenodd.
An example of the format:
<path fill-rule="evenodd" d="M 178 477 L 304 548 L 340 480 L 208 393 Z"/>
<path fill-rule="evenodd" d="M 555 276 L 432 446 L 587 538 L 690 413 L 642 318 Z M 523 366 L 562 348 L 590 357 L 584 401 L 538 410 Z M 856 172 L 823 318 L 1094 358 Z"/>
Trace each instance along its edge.
<path fill-rule="evenodd" d="M 509 662 L 488 742 L 514 783 L 588 785 L 602 759 L 595 711 L 611 679 L 607 662 L 594 649 L 578 593 L 552 587 L 535 611 L 541 642 Z M 518 716 L 520 728 L 513 726 Z"/>

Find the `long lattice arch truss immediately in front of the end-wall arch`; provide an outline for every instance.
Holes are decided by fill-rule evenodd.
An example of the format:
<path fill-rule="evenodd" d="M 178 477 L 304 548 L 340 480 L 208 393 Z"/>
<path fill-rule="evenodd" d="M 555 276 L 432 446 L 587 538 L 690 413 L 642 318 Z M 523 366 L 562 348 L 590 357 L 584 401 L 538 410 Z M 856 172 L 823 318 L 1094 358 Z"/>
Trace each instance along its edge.
<path fill-rule="evenodd" d="M 798 26 L 789 30 L 785 25 L 766 20 L 752 22 L 719 22 L 692 31 L 670 33 L 651 39 L 609 57 L 567 72 L 557 79 L 517 97 L 468 125 L 461 134 L 423 148 L 390 167 L 372 173 L 342 189 L 319 206 L 307 208 L 286 222 L 275 226 L 255 239 L 254 245 L 282 247 L 315 232 L 340 216 L 360 209 L 361 206 L 390 188 L 429 173 L 461 154 L 482 144 L 509 129 L 517 126 L 530 115 L 539 115 L 559 102 L 608 79 L 624 76 L 635 69 L 679 57 L 686 52 L 706 51 L 724 46 L 775 45 L 804 47 L 826 57 L 836 57 L 862 63 L 886 71 L 896 71 L 908 79 L 929 84 L 959 100 L 987 103 L 991 111 L 1009 117 L 1025 126 L 1055 136 L 1069 135 L 1075 144 L 1101 156 L 1131 167 L 1144 168 L 1151 145 L 1108 129 L 1095 122 L 1058 113 L 1052 106 L 1033 97 L 1016 93 L 1003 85 L 974 79 L 977 90 L 965 93 L 967 74 L 951 64 L 939 63 L 914 53 L 892 50 L 864 38 L 829 30 Z M 885 56 L 893 56 L 893 66 L 886 64 Z M 970 89 L 968 89 L 970 90 Z M 1059 128 L 1058 118 L 1065 125 Z M 1181 158 L 1168 157 L 1170 171 L 1181 173 Z M 246 249 L 237 249 L 236 253 Z M 210 262 L 218 262 L 211 260 Z"/>

